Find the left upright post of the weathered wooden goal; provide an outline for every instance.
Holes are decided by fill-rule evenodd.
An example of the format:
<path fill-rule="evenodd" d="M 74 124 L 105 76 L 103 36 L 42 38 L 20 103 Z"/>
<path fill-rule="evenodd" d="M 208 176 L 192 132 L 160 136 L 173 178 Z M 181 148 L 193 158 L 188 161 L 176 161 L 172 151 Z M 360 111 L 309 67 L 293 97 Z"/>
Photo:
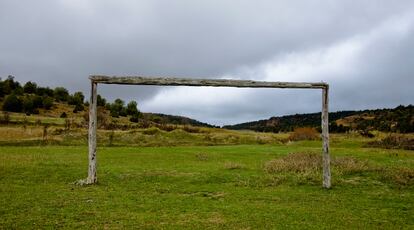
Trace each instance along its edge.
<path fill-rule="evenodd" d="M 97 83 L 91 80 L 91 100 L 89 102 L 89 168 L 86 184 L 94 184 L 98 181 L 96 177 L 96 104 L 97 104 Z"/>

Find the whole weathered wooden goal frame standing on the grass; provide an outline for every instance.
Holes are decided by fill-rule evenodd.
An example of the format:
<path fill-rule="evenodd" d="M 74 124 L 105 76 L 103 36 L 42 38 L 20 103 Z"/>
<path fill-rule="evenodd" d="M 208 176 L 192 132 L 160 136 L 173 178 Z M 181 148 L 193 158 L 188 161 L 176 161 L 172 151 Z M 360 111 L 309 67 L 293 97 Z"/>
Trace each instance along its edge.
<path fill-rule="evenodd" d="M 329 155 L 329 127 L 328 127 L 328 92 L 329 85 L 324 82 L 265 82 L 250 80 L 227 79 L 191 79 L 191 78 L 161 78 L 142 76 L 105 76 L 91 75 L 91 99 L 89 102 L 89 167 L 88 177 L 82 184 L 94 184 L 97 180 L 96 165 L 96 129 L 97 129 L 97 86 L 99 84 L 121 85 L 157 85 L 157 86 L 211 86 L 237 88 L 293 88 L 293 89 L 322 89 L 322 156 L 323 156 L 323 187 L 331 187 L 331 170 Z"/>

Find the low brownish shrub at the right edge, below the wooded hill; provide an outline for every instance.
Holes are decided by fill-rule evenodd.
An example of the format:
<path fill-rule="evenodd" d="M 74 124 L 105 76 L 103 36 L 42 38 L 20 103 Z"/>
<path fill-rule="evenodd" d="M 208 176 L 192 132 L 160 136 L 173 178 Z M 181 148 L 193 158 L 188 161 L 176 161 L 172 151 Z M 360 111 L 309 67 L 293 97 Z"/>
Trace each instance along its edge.
<path fill-rule="evenodd" d="M 369 142 L 366 146 L 386 149 L 414 150 L 414 138 L 404 135 L 390 134 L 379 141 Z"/>

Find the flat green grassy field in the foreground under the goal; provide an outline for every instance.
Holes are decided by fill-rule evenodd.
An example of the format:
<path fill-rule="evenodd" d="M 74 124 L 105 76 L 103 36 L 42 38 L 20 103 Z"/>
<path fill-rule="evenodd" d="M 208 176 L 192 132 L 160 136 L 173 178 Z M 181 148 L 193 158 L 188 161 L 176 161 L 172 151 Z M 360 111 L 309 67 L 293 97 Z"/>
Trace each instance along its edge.
<path fill-rule="evenodd" d="M 86 146 L 2 146 L 0 228 L 413 229 L 414 152 L 362 143 L 333 138 L 330 190 L 320 141 L 100 147 L 95 186 Z"/>

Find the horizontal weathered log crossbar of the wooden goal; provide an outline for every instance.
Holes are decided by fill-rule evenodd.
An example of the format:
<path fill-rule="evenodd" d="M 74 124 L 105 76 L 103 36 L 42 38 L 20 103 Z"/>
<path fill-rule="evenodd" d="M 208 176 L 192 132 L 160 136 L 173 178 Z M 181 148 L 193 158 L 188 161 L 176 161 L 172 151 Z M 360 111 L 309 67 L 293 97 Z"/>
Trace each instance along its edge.
<path fill-rule="evenodd" d="M 159 86 L 212 86 L 212 87 L 238 87 L 238 88 L 310 88 L 323 89 L 327 87 L 324 82 L 265 82 L 251 80 L 230 79 L 191 79 L 191 78 L 160 78 L 141 76 L 104 76 L 91 75 L 93 82 L 101 84 L 121 85 L 159 85 Z"/>

